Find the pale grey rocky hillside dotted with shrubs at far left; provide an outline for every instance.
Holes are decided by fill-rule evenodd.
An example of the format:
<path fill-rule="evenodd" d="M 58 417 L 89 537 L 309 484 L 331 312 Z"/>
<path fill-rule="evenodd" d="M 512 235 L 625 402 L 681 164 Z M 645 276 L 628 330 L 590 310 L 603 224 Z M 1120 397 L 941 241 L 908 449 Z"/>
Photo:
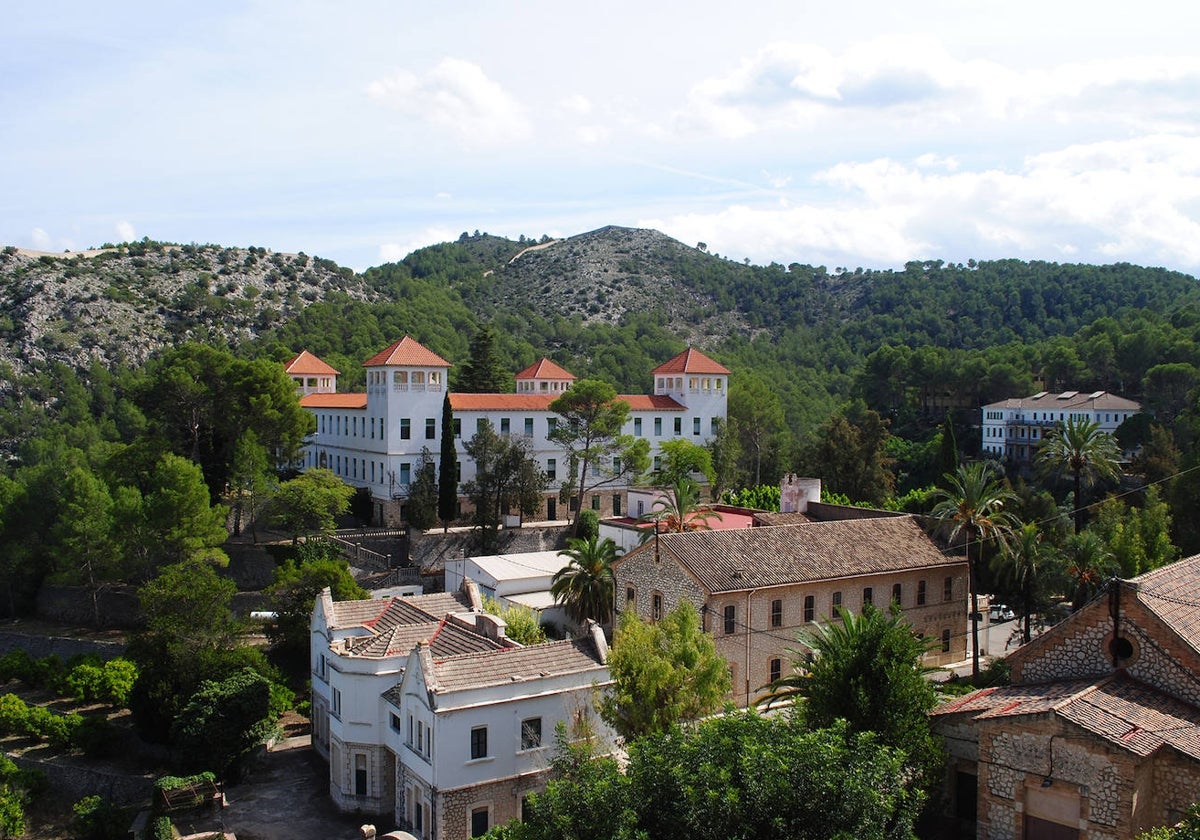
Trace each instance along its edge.
<path fill-rule="evenodd" d="M 80 253 L 0 251 L 0 362 L 140 362 L 158 348 L 236 346 L 308 304 L 374 298 L 328 259 L 143 240 Z"/>

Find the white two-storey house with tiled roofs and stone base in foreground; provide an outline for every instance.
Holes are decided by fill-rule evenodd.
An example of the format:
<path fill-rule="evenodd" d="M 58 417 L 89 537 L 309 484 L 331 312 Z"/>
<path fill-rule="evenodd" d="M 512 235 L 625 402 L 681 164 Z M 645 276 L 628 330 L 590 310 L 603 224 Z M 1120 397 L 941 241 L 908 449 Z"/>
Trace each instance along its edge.
<path fill-rule="evenodd" d="M 457 840 L 521 816 L 548 775 L 556 726 L 612 733 L 590 709 L 608 649 L 583 638 L 522 647 L 478 590 L 335 602 L 312 618 L 312 743 L 346 812 Z"/>

